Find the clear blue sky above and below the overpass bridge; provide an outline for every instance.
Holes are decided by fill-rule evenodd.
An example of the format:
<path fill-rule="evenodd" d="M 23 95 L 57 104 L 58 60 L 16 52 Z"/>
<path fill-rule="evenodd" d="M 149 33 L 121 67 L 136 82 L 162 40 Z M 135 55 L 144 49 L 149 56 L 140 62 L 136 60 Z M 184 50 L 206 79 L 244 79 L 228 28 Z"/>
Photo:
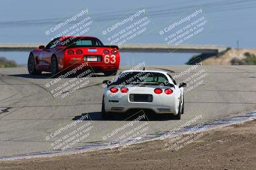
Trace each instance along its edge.
<path fill-rule="evenodd" d="M 205 30 L 184 44 L 236 47 L 239 40 L 240 47 L 255 48 L 256 1 L 241 0 L 2 1 L 0 6 L 0 43 L 47 43 L 50 37 L 45 35 L 45 29 L 54 25 L 56 21 L 71 17 L 84 8 L 88 8 L 90 16 L 93 17 L 94 25 L 88 34 L 99 37 L 104 43 L 108 43 L 108 36 L 102 34 L 104 29 L 116 21 L 123 20 L 136 10 L 145 8 L 146 16 L 151 24 L 147 26 L 145 34 L 137 36 L 128 43 L 164 44 L 166 42 L 159 31 L 175 20 L 186 17 L 193 10 L 202 8 L 202 15 L 207 18 Z M 95 29 L 96 27 L 97 29 Z M 26 63 L 28 58 L 27 53 L 24 52 L 1 52 L 0 55 L 17 60 L 19 64 Z M 147 59 L 149 54 L 125 53 L 123 56 L 134 55 L 143 55 L 142 58 Z M 163 59 L 170 56 L 167 60 L 176 65 L 186 62 L 192 54 L 162 53 L 161 55 Z M 132 64 L 132 61 L 127 58 L 123 61 L 124 65 Z M 150 57 L 148 63 L 154 63 L 154 59 Z M 158 65 L 161 65 L 161 62 Z"/>

